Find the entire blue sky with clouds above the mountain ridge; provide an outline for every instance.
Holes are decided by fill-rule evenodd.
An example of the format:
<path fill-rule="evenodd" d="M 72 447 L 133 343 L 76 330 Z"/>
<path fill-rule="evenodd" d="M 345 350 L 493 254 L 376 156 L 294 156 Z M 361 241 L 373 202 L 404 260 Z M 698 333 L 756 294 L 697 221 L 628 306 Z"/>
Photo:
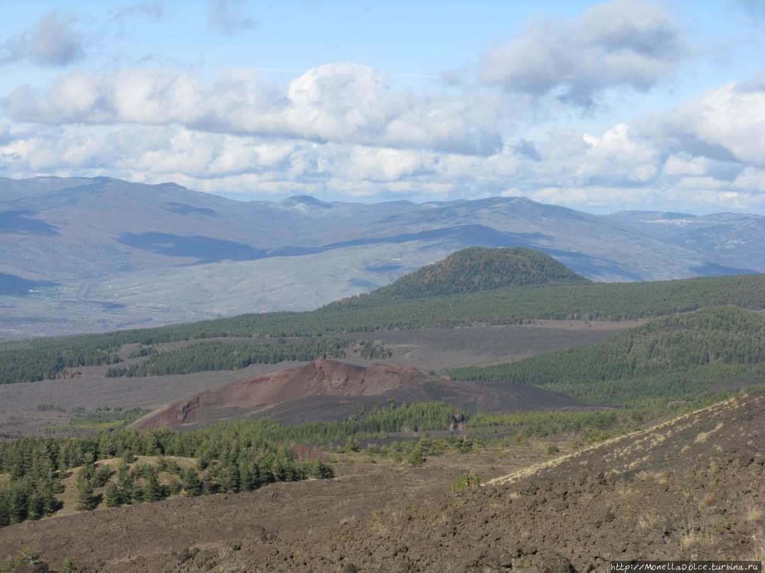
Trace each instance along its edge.
<path fill-rule="evenodd" d="M 765 214 L 765 0 L 6 0 L 0 176 Z"/>

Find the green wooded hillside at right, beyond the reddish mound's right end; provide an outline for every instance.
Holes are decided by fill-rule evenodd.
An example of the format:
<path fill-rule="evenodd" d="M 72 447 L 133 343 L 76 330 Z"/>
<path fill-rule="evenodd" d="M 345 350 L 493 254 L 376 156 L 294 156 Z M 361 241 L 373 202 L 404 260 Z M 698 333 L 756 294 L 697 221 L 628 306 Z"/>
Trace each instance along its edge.
<path fill-rule="evenodd" d="M 656 319 L 593 345 L 451 374 L 554 388 L 595 403 L 684 397 L 722 380 L 765 380 L 765 316 L 712 307 Z"/>

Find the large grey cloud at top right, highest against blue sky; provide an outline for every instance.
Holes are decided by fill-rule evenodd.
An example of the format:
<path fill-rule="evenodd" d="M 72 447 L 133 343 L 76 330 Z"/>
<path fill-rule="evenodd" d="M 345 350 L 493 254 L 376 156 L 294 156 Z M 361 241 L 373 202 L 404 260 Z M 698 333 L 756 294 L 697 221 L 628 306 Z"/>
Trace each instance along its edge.
<path fill-rule="evenodd" d="M 535 21 L 522 37 L 483 56 L 479 78 L 530 95 L 589 105 L 604 89 L 647 90 L 685 56 L 670 15 L 644 0 L 612 0 L 574 21 Z"/>

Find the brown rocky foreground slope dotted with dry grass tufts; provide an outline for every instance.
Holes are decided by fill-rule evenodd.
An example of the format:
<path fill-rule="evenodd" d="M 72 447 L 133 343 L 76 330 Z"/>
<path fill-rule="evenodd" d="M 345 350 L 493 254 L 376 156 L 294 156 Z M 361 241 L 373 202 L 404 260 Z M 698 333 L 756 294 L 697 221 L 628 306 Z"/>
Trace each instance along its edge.
<path fill-rule="evenodd" d="M 0 557 L 25 545 L 101 571 L 489 573 L 765 552 L 762 394 L 446 494 L 460 459 L 22 523 L 0 531 Z"/>

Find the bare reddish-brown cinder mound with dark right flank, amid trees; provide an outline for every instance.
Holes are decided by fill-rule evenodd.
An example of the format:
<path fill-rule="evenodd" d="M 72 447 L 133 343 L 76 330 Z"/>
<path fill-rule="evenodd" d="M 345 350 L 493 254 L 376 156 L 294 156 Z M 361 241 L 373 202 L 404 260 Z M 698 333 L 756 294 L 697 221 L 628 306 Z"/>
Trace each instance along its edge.
<path fill-rule="evenodd" d="M 415 367 L 367 367 L 317 360 L 303 367 L 239 380 L 171 403 L 133 424 L 189 428 L 221 419 L 271 417 L 285 423 L 343 419 L 363 407 L 443 400 L 461 410 L 512 412 L 581 407 L 560 393 L 529 386 L 501 389 L 430 377 Z"/>

